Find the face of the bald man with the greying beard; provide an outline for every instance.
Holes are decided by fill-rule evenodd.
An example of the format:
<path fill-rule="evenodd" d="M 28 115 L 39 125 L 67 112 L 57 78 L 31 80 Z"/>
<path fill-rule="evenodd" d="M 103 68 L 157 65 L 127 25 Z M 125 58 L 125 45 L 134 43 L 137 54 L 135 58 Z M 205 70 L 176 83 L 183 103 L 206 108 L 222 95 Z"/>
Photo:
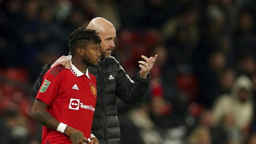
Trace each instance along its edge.
<path fill-rule="evenodd" d="M 102 40 L 99 52 L 101 52 L 101 57 L 109 58 L 112 49 L 115 47 L 114 38 L 116 37 L 116 29 L 111 27 L 110 29 L 105 30 L 107 31 L 99 34 L 99 37 L 101 37 Z"/>

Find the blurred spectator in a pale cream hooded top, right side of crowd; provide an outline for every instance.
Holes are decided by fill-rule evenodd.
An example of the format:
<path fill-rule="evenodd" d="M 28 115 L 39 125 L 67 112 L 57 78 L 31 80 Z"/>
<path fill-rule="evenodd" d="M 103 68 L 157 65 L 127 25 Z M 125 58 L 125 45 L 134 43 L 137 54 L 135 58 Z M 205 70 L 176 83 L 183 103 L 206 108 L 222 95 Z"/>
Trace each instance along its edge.
<path fill-rule="evenodd" d="M 230 94 L 220 96 L 213 107 L 214 125 L 221 124 L 227 117 L 234 122 L 234 128 L 243 133 L 242 140 L 247 139 L 249 126 L 253 118 L 253 84 L 249 77 L 237 77 Z"/>

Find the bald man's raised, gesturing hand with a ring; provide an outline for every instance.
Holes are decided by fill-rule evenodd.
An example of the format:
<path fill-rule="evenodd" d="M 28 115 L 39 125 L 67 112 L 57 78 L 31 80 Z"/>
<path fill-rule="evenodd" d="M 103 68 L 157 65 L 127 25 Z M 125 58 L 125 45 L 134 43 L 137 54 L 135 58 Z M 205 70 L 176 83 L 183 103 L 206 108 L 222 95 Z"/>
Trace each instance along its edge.
<path fill-rule="evenodd" d="M 147 58 L 145 56 L 141 56 L 145 61 L 139 61 L 139 67 L 141 68 L 140 70 L 140 77 L 142 79 L 146 79 L 148 73 L 150 72 L 151 68 L 153 67 L 155 61 L 157 60 L 157 54 L 155 55 L 155 57 L 150 57 L 150 58 Z"/>

